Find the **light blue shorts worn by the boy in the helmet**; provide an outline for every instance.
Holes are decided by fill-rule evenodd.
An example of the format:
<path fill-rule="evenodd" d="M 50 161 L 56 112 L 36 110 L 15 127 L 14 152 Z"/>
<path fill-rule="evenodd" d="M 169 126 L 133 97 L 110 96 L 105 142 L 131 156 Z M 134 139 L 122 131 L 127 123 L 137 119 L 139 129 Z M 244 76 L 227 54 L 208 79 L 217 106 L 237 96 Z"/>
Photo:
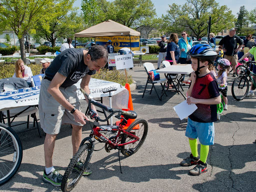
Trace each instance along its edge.
<path fill-rule="evenodd" d="M 185 135 L 190 138 L 198 137 L 203 145 L 211 145 L 214 143 L 214 124 L 213 122 L 196 122 L 188 118 Z"/>

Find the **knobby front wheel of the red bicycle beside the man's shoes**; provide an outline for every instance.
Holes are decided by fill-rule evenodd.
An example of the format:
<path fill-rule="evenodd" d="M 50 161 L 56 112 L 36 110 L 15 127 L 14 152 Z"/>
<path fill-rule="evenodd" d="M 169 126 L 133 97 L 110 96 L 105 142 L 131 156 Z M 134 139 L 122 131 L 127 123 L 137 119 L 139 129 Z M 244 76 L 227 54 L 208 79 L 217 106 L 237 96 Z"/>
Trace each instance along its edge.
<path fill-rule="evenodd" d="M 79 147 L 73 158 L 70 160 L 61 182 L 62 191 L 70 191 L 80 180 L 84 169 L 88 166 L 93 150 L 90 150 L 90 143 Z"/>

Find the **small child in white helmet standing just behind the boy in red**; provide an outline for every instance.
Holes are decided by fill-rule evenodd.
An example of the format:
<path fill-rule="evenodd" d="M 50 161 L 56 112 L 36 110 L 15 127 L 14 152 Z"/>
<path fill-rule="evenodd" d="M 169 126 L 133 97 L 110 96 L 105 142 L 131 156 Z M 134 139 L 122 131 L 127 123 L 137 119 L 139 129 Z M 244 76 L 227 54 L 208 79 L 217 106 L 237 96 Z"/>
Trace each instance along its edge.
<path fill-rule="evenodd" d="M 226 83 L 226 78 L 227 78 L 227 72 L 226 69 L 230 66 L 229 60 L 226 58 L 221 58 L 217 61 L 218 63 L 218 76 L 217 76 L 217 82 L 218 82 L 218 90 L 222 94 L 222 98 L 224 101 L 224 110 L 227 110 L 227 83 Z"/>

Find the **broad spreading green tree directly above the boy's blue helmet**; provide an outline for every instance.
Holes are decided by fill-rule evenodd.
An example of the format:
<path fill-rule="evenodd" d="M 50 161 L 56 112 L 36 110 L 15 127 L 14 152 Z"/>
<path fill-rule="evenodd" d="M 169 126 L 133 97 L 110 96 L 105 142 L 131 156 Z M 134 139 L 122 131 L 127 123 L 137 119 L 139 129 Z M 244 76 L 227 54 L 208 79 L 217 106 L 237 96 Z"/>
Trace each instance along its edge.
<path fill-rule="evenodd" d="M 208 20 L 211 16 L 211 32 L 232 27 L 235 17 L 227 6 L 219 6 L 215 0 L 186 0 L 184 5 L 171 4 L 162 18 L 166 31 L 188 31 L 197 38 L 207 34 Z"/>

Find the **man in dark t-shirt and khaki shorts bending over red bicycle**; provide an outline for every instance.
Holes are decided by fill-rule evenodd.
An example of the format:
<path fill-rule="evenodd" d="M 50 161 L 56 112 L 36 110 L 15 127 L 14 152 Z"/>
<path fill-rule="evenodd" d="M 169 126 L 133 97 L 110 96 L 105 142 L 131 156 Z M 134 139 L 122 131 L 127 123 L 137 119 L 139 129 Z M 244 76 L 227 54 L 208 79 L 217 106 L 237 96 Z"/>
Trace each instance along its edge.
<path fill-rule="evenodd" d="M 77 88 L 74 84 L 81 78 L 80 87 L 89 94 L 90 77 L 105 66 L 107 55 L 106 49 L 101 45 L 94 45 L 90 50 L 68 48 L 58 54 L 45 70 L 38 104 L 40 125 L 46 133 L 43 180 L 54 186 L 60 186 L 62 180 L 62 175 L 52 165 L 54 143 L 61 124 L 72 125 L 74 155 L 81 142 L 82 125 L 86 123 L 85 120 L 89 120 L 80 110 Z M 96 111 L 93 105 L 91 108 Z M 90 173 L 90 169 L 86 168 L 83 175 Z"/>

